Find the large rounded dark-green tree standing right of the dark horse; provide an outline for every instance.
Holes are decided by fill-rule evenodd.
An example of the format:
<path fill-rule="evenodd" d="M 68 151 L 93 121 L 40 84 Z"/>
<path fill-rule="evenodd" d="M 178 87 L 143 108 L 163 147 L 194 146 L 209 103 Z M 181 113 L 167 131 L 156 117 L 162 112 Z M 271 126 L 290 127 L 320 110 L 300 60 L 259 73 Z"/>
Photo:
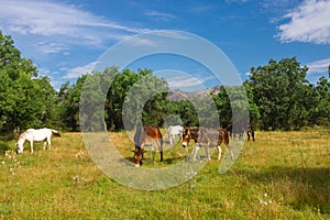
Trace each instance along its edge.
<path fill-rule="evenodd" d="M 298 129 L 308 124 L 312 87 L 306 79 L 307 67 L 293 58 L 251 68 L 246 81 L 258 107 L 262 129 Z"/>

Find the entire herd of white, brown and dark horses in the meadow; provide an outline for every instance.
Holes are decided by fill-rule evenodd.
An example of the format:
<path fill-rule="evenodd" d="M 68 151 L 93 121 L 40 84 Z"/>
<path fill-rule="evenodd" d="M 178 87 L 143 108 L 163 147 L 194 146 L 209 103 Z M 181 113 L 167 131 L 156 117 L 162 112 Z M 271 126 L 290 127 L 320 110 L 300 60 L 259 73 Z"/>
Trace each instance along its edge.
<path fill-rule="evenodd" d="M 233 130 L 235 128 L 235 130 Z M 240 128 L 240 129 L 237 129 Z M 242 128 L 242 129 L 241 129 Z M 195 150 L 193 151 L 193 161 L 196 161 L 197 152 L 200 147 L 205 147 L 207 158 L 210 160 L 209 147 L 217 146 L 218 148 L 218 160 L 221 158 L 221 144 L 224 144 L 227 148 L 230 151 L 231 158 L 234 158 L 233 152 L 229 145 L 229 139 L 239 139 L 243 138 L 243 134 L 248 134 L 248 141 L 250 141 L 250 136 L 254 141 L 254 130 L 252 124 L 248 125 L 245 130 L 244 127 L 234 127 L 229 124 L 227 129 L 208 129 L 204 127 L 194 127 L 194 128 L 184 128 L 182 125 L 170 125 L 167 129 L 168 133 L 168 142 L 172 145 L 175 136 L 178 136 L 182 141 L 183 147 L 186 147 L 190 140 L 195 142 Z M 51 138 L 52 134 L 56 136 L 61 136 L 59 132 L 53 129 L 29 129 L 23 132 L 18 142 L 18 154 L 23 152 L 23 144 L 25 141 L 30 142 L 31 153 L 33 153 L 33 142 L 44 142 L 44 150 L 46 148 L 46 144 L 48 143 L 48 148 L 51 148 Z M 158 147 L 158 152 L 161 153 L 161 162 L 163 161 L 163 135 L 160 129 L 155 125 L 140 125 L 136 127 L 136 131 L 134 134 L 134 166 L 140 166 L 143 163 L 143 153 L 144 145 L 147 143 L 152 143 L 152 157 L 155 160 L 155 145 Z"/>

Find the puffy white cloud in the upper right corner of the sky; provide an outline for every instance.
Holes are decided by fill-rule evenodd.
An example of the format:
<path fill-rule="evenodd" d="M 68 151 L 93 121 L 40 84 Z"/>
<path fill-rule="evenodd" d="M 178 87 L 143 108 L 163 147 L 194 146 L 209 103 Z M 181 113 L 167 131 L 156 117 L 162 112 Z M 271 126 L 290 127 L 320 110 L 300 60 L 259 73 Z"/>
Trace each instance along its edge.
<path fill-rule="evenodd" d="M 305 0 L 283 19 L 289 22 L 278 26 L 282 42 L 330 44 L 329 0 Z"/>

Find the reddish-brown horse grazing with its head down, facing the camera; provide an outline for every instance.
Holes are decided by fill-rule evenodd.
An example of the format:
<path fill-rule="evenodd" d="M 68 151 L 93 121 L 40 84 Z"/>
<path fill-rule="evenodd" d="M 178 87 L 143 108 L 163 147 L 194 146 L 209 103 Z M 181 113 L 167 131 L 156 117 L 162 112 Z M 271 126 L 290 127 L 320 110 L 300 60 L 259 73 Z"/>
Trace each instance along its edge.
<path fill-rule="evenodd" d="M 161 152 L 161 162 L 163 161 L 163 135 L 157 127 L 154 125 L 138 127 L 136 132 L 134 134 L 134 142 L 135 142 L 135 150 L 133 152 L 134 152 L 136 167 L 142 165 L 144 145 L 147 142 L 152 142 L 153 162 L 155 161 L 155 151 L 154 151 L 153 142 L 156 142 L 156 144 L 158 145 L 158 150 Z"/>

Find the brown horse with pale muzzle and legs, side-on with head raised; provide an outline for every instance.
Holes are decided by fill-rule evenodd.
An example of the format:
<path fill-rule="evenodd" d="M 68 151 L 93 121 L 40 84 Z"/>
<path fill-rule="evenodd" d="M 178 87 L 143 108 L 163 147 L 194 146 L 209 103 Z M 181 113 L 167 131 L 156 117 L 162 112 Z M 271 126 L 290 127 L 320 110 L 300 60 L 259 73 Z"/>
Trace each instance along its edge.
<path fill-rule="evenodd" d="M 218 147 L 218 161 L 221 158 L 221 147 L 222 143 L 230 151 L 231 158 L 233 160 L 233 153 L 229 146 L 229 134 L 224 129 L 206 129 L 206 128 L 187 128 L 183 134 L 183 146 L 186 147 L 189 143 L 190 139 L 193 139 L 196 143 L 194 151 L 194 161 L 196 161 L 196 154 L 199 151 L 200 146 L 205 146 L 205 151 L 208 160 L 211 157 L 209 155 L 209 147 L 217 145 Z"/>

